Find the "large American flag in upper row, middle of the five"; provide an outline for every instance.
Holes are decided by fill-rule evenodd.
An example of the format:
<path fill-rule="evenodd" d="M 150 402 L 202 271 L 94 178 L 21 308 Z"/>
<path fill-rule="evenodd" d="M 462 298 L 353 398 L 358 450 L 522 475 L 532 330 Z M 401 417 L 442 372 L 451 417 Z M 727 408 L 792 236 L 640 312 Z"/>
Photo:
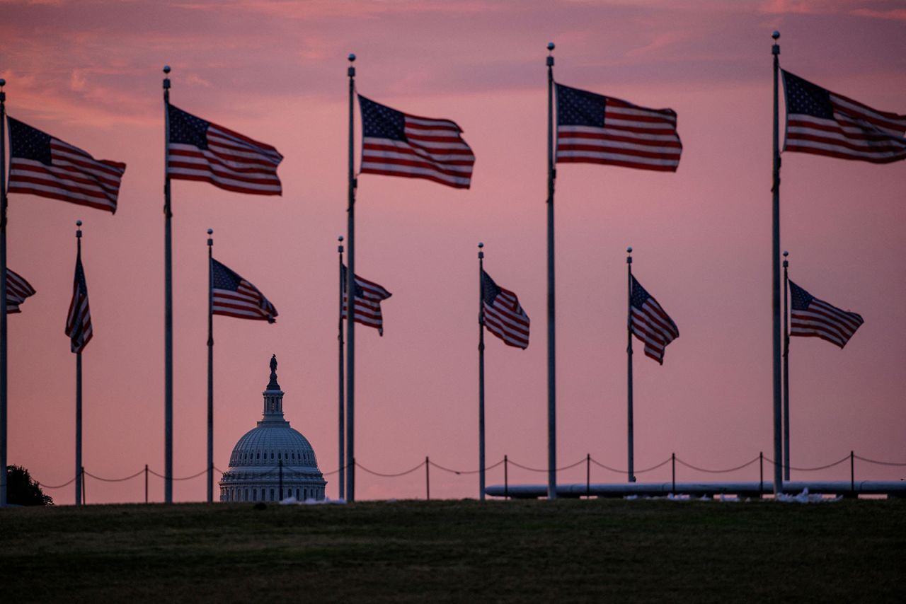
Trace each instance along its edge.
<path fill-rule="evenodd" d="M 468 188 L 475 156 L 456 122 L 419 118 L 359 95 L 361 172 Z"/>

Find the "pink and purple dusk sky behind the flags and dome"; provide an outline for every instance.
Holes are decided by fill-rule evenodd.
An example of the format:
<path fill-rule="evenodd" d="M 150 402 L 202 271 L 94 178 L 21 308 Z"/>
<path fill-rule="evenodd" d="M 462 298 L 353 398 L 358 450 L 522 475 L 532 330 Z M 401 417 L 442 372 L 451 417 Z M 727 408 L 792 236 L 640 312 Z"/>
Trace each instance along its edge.
<path fill-rule="evenodd" d="M 103 477 L 163 468 L 163 116 L 178 107 L 275 145 L 283 197 L 175 181 L 174 473 L 206 464 L 208 227 L 215 256 L 255 283 L 275 325 L 216 317 L 215 464 L 260 417 L 276 353 L 284 409 L 324 472 L 337 467 L 336 236 L 346 228 L 347 53 L 362 94 L 456 120 L 472 188 L 364 175 L 356 269 L 384 285 L 385 332 L 358 328 L 356 457 L 399 472 L 430 455 L 477 467 L 477 259 L 532 318 L 528 350 L 488 337 L 487 460 L 546 464 L 545 44 L 563 83 L 679 115 L 679 171 L 562 165 L 556 194 L 559 465 L 626 463 L 625 261 L 679 325 L 664 365 L 635 357 L 636 467 L 671 452 L 705 467 L 772 455 L 771 39 L 810 81 L 906 112 L 901 2 L 66 2 L 0 0 L 7 111 L 96 158 L 128 164 L 116 216 L 11 195 L 9 266 L 37 294 L 9 318 L 9 462 L 72 478 L 75 358 L 63 334 L 74 222 L 94 339 L 83 354 L 84 465 Z M 358 118 L 356 129 L 358 139 Z M 356 151 L 358 156 L 358 150 Z M 793 465 L 848 455 L 906 461 L 906 166 L 784 156 L 782 246 L 791 277 L 860 312 L 845 350 L 795 339 Z M 637 351 L 641 351 L 637 347 Z M 766 476 L 770 467 L 766 466 Z M 749 466 L 727 479 L 757 479 Z M 847 479 L 845 465 L 794 479 Z M 903 469 L 860 463 L 857 478 Z M 678 469 L 678 479 L 713 479 Z M 670 480 L 670 467 L 639 475 Z M 327 476 L 336 496 L 336 475 Z M 510 469 L 512 483 L 545 475 Z M 560 482 L 582 482 L 584 468 Z M 620 475 L 593 468 L 592 480 Z M 502 469 L 488 484 L 503 482 Z M 143 483 L 89 479 L 90 503 Z M 421 497 L 424 475 L 358 473 L 359 498 Z M 72 503 L 72 487 L 49 492 Z M 431 494 L 474 497 L 477 477 L 432 470 Z M 152 477 L 150 497 L 163 484 Z M 174 499 L 205 497 L 203 478 Z"/>

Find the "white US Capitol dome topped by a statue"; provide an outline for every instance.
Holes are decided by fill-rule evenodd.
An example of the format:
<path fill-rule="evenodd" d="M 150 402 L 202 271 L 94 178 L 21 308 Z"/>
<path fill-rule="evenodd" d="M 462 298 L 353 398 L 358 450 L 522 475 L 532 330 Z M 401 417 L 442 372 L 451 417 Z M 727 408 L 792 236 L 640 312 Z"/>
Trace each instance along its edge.
<path fill-rule="evenodd" d="M 289 497 L 323 500 L 327 483 L 308 439 L 284 419 L 283 395 L 274 355 L 271 380 L 264 392 L 264 416 L 233 447 L 229 467 L 219 483 L 220 501 L 273 502 Z"/>

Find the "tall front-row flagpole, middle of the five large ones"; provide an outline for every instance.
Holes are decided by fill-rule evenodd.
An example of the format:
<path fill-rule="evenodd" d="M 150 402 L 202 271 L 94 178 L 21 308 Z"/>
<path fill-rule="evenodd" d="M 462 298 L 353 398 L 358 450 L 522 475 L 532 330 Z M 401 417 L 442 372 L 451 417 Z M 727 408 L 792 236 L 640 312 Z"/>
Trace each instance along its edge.
<path fill-rule="evenodd" d="M 352 102 L 355 99 L 355 55 L 349 55 L 349 208 L 347 209 L 346 235 L 349 237 L 349 253 L 346 259 L 346 292 L 349 302 L 346 304 L 346 459 L 350 460 L 346 473 L 346 499 L 355 501 L 355 159 L 352 157 L 354 142 L 354 124 L 352 122 Z"/>

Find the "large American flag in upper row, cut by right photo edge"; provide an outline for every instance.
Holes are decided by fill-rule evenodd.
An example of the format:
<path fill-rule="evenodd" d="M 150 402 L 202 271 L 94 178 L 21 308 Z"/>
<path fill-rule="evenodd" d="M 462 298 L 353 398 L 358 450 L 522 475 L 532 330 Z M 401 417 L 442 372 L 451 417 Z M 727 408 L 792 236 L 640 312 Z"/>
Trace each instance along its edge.
<path fill-rule="evenodd" d="M 784 71 L 786 151 L 887 164 L 906 159 L 906 115 L 873 110 Z"/>

